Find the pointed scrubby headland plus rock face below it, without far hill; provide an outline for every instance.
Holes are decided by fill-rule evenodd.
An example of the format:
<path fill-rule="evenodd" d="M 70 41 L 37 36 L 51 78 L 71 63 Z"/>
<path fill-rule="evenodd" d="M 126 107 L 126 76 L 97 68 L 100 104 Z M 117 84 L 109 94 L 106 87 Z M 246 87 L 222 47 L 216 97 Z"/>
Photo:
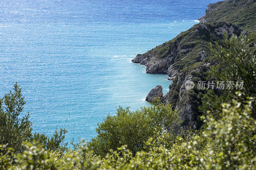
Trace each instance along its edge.
<path fill-rule="evenodd" d="M 197 89 L 187 91 L 185 81 L 205 81 L 206 71 L 215 63 L 209 43 L 223 43 L 224 32 L 229 36 L 239 36 L 242 30 L 228 22 L 199 23 L 174 39 L 132 59 L 134 63 L 146 65 L 147 73 L 166 73 L 173 80 L 170 91 L 162 101 L 181 109 L 180 118 L 184 120 L 182 125 L 185 127 L 198 126 L 197 107 L 201 101 L 196 98 L 206 93 Z"/>

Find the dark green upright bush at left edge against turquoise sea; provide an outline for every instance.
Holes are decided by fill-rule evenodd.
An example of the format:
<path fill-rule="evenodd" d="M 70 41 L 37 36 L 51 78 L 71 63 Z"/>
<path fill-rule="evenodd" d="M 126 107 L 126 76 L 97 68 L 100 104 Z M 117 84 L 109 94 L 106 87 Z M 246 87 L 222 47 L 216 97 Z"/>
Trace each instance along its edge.
<path fill-rule="evenodd" d="M 64 148 L 63 140 L 66 129 L 60 129 L 53 137 L 48 137 L 45 134 L 32 134 L 32 122 L 29 120 L 29 114 L 22 115 L 22 111 L 26 101 L 21 93 L 21 88 L 17 83 L 13 87 L 13 91 L 5 94 L 0 98 L 0 144 L 7 145 L 5 148 L 12 148 L 14 153 L 20 153 L 25 150 L 22 142 L 38 141 L 47 150 L 56 150 Z M 7 150 L 0 150 L 6 153 Z"/>

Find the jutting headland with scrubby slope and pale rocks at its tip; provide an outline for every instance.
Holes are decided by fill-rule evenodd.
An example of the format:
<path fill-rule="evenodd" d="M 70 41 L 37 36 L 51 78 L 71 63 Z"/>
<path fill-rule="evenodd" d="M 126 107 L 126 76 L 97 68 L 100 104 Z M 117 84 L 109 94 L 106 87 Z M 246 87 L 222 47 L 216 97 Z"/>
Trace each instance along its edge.
<path fill-rule="evenodd" d="M 229 35 L 241 33 L 238 26 L 227 22 L 196 24 L 147 53 L 138 54 L 132 62 L 146 65 L 147 73 L 167 73 L 174 77 L 180 70 L 209 56 L 209 42 L 222 41 L 225 31 Z"/>

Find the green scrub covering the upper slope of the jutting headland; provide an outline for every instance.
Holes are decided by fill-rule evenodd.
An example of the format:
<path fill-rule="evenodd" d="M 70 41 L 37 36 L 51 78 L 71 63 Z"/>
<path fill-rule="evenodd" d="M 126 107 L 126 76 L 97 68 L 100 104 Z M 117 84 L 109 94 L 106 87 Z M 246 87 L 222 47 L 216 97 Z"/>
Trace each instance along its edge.
<path fill-rule="evenodd" d="M 232 27 L 232 33 L 237 36 L 240 35 L 242 30 L 235 25 L 227 22 L 213 22 L 213 23 L 199 23 L 181 32 L 174 39 L 164 42 L 162 45 L 149 50 L 146 55 L 148 57 L 157 58 L 162 60 L 164 58 L 174 58 L 170 64 L 172 67 L 180 71 L 188 66 L 191 66 L 197 62 L 201 62 L 202 59 L 200 52 L 204 51 L 207 56 L 210 53 L 210 42 L 218 41 L 223 43 L 223 33 L 217 33 L 216 30 L 222 28 Z M 229 33 L 231 35 L 231 33 Z"/>

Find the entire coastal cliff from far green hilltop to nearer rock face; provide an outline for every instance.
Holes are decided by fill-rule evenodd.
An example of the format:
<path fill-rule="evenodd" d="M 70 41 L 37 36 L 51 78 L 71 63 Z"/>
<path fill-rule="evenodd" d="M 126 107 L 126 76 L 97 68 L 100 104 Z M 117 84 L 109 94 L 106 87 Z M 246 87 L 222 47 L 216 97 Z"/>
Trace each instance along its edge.
<path fill-rule="evenodd" d="M 186 90 L 185 82 L 190 80 L 197 84 L 198 81 L 208 82 L 214 80 L 214 78 L 209 77 L 207 71 L 213 65 L 218 65 L 218 63 L 211 55 L 209 43 L 212 43 L 213 48 L 215 48 L 215 41 L 220 45 L 224 44 L 224 32 L 227 32 L 228 36 L 233 34 L 239 36 L 244 31 L 251 37 L 248 48 L 252 53 L 256 53 L 254 47 L 254 42 L 256 43 L 256 36 L 254 35 L 256 33 L 254 32 L 256 24 L 252 24 L 256 21 L 254 20 L 255 12 L 251 14 L 250 18 L 247 18 L 248 25 L 241 23 L 244 15 L 237 16 L 237 21 L 234 20 L 234 17 L 219 17 L 219 19 L 216 17 L 217 15 L 246 14 L 248 10 L 252 11 L 255 8 L 254 3 L 254 0 L 227 0 L 209 4 L 204 16 L 199 18 L 199 24 L 180 33 L 174 39 L 164 42 L 144 54 L 138 54 L 132 59 L 134 63 L 145 65 L 147 73 L 168 74 L 172 84 L 162 101 L 171 103 L 175 109 L 181 110 L 180 118 L 183 120 L 181 126 L 194 129 L 198 129 L 201 126 L 199 120 L 201 113 L 198 107 L 202 103 L 204 94 L 209 90 L 196 89 L 196 87 Z M 228 15 L 225 13 L 227 7 L 231 9 L 228 10 Z M 217 89 L 212 89 L 212 91 L 218 95 L 220 94 Z"/>

